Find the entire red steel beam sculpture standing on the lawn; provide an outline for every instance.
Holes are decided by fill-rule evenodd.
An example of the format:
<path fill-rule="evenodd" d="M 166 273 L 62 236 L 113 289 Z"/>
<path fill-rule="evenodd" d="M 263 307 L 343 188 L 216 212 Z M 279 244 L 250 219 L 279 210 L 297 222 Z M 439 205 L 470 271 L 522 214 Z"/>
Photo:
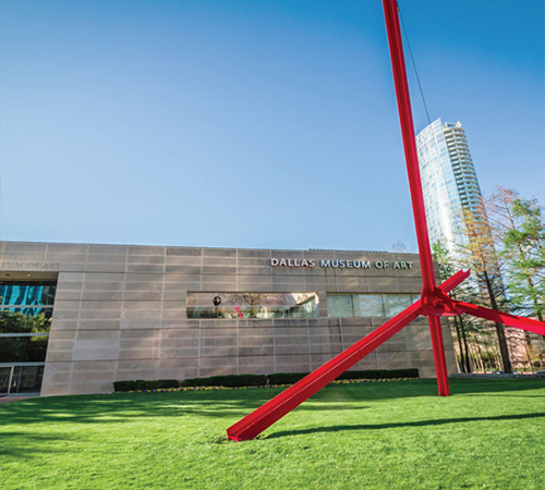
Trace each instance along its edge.
<path fill-rule="evenodd" d="M 428 318 L 439 396 L 449 395 L 447 363 L 445 360 L 445 347 L 443 344 L 439 317 L 469 314 L 486 320 L 545 335 L 544 322 L 451 299 L 447 293 L 468 279 L 470 271 L 459 271 L 438 286 L 435 283 L 414 139 L 411 101 L 407 83 L 403 46 L 401 42 L 401 30 L 397 12 L 398 5 L 396 0 L 383 0 L 383 7 L 386 17 L 391 66 L 393 70 L 399 119 L 401 122 L 407 171 L 409 173 L 414 223 L 416 225 L 423 281 L 421 297 L 416 303 L 405 308 L 391 320 L 388 320 L 367 336 L 334 357 L 324 366 L 311 372 L 301 381 L 291 385 L 250 415 L 246 415 L 233 426 L 229 427 L 229 429 L 227 429 L 227 436 L 233 441 L 254 439 L 267 427 L 271 426 L 305 400 L 310 399 L 313 394 L 373 352 L 403 327 L 407 327 L 419 316 L 426 316 Z"/>

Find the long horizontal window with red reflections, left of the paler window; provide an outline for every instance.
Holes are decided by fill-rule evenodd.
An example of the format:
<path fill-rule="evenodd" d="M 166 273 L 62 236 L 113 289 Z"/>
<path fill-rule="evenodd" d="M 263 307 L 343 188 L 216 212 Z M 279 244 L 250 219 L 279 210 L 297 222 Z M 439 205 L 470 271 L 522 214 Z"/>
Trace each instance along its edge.
<path fill-rule="evenodd" d="M 316 293 L 187 293 L 187 318 L 317 318 Z"/>

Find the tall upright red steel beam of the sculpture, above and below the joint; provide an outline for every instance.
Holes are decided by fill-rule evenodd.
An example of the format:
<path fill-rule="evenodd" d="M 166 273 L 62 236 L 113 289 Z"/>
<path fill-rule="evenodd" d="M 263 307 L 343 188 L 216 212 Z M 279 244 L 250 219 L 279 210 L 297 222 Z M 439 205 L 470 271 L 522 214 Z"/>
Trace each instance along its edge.
<path fill-rule="evenodd" d="M 427 234 L 426 212 L 424 209 L 424 195 L 422 193 L 422 181 L 420 179 L 419 157 L 414 137 L 412 120 L 411 98 L 409 84 L 407 82 L 407 70 L 403 57 L 403 44 L 401 41 L 401 29 L 399 26 L 398 3 L 396 0 L 383 0 L 384 14 L 386 19 L 386 30 L 388 33 L 388 45 L 390 47 L 391 68 L 393 71 L 393 83 L 398 99 L 399 120 L 401 134 L 403 136 L 403 148 L 405 152 L 407 172 L 409 174 L 409 187 L 411 189 L 412 209 L 414 224 L 416 226 L 416 240 L 419 242 L 420 265 L 422 269 L 422 304 L 434 306 L 435 304 L 435 277 L 429 248 L 429 236 Z M 445 362 L 445 348 L 440 320 L 429 316 L 429 331 L 434 347 L 435 370 L 437 373 L 437 385 L 439 395 L 449 394 L 447 364 Z"/>

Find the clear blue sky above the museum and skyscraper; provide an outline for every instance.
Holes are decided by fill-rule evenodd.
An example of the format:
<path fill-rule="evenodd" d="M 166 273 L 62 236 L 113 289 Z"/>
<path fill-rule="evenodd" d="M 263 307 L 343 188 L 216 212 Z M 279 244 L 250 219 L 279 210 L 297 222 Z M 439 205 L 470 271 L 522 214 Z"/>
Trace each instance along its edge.
<path fill-rule="evenodd" d="M 482 189 L 545 204 L 543 1 L 399 4 Z M 415 247 L 379 0 L 3 0 L 0 33 L 1 240 Z"/>

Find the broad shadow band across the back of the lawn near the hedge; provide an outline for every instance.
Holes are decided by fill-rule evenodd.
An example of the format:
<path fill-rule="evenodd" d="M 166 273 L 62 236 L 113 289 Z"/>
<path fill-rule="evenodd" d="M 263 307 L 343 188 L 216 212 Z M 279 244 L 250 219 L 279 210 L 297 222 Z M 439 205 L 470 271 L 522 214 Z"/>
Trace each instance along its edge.
<path fill-rule="evenodd" d="M 500 393 L 509 396 L 532 396 L 526 394 L 528 391 L 543 388 L 545 380 L 451 380 L 453 396 L 489 396 Z M 192 415 L 232 420 L 247 415 L 281 391 L 282 388 L 271 388 L 38 397 L 0 405 L 0 426 L 44 421 L 110 424 L 131 421 L 135 418 L 183 418 Z M 422 396 L 437 396 L 434 379 L 330 384 L 296 409 L 365 409 L 372 405 L 363 405 L 362 402 Z"/>

